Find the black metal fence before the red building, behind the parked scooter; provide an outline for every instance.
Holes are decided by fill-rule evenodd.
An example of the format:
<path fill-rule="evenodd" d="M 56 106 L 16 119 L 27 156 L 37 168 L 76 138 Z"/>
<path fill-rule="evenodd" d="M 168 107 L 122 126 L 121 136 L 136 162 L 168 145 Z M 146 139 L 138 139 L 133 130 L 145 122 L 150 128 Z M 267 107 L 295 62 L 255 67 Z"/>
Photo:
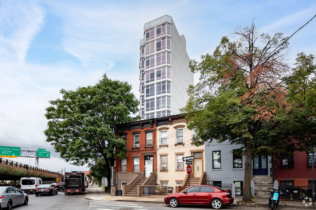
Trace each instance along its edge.
<path fill-rule="evenodd" d="M 309 186 L 280 186 L 281 198 L 283 199 L 304 199 L 313 197 L 313 189 Z"/>

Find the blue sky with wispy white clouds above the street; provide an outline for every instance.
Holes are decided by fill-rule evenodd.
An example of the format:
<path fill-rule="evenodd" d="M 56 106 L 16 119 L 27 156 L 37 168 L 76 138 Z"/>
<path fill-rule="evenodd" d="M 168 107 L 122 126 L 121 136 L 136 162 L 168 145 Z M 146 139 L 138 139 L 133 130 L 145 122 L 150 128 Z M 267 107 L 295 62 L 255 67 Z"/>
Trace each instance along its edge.
<path fill-rule="evenodd" d="M 45 108 L 60 89 L 94 85 L 105 73 L 127 81 L 139 98 L 143 27 L 164 15 L 185 36 L 190 59 L 200 61 L 252 21 L 259 32 L 290 36 L 316 15 L 316 1 L 0 0 L 0 145 L 51 151 L 51 159 L 39 159 L 51 171 L 88 170 L 46 142 Z M 289 63 L 298 52 L 316 55 L 316 18 L 289 41 Z M 10 160 L 35 165 L 34 158 Z"/>

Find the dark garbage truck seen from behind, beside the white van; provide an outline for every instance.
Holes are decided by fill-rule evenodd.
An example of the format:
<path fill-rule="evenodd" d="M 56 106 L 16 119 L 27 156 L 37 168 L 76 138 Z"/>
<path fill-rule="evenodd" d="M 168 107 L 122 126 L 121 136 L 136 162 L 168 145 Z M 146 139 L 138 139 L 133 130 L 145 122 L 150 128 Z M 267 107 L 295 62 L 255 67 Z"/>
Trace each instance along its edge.
<path fill-rule="evenodd" d="M 82 171 L 65 173 L 64 194 L 85 194 L 85 174 Z"/>

